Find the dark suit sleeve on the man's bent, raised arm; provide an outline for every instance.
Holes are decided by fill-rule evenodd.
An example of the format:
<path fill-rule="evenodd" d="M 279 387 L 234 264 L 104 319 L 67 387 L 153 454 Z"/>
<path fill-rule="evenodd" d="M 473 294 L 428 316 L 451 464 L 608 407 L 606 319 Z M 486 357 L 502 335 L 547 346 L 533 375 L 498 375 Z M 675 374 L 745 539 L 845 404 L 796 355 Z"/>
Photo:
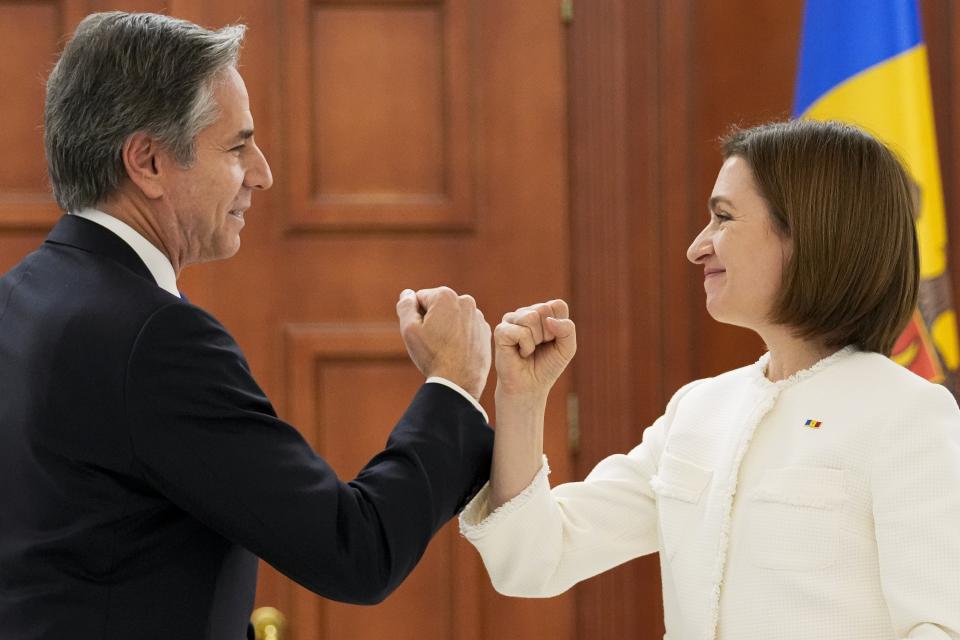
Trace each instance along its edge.
<path fill-rule="evenodd" d="M 342 481 L 276 417 L 226 330 L 190 305 L 164 307 L 144 325 L 125 405 L 139 471 L 158 491 L 344 602 L 386 597 L 489 476 L 483 417 L 455 391 L 425 384 L 384 450 Z"/>

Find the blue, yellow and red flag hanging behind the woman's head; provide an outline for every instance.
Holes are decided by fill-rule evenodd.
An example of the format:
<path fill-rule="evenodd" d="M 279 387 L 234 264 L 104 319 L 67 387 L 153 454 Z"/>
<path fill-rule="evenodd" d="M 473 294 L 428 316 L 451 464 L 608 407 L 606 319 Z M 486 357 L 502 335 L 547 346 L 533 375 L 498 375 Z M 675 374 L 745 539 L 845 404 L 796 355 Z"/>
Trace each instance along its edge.
<path fill-rule="evenodd" d="M 856 124 L 903 161 L 919 194 L 920 303 L 891 357 L 957 391 L 960 344 L 916 0 L 807 0 L 794 115 Z"/>

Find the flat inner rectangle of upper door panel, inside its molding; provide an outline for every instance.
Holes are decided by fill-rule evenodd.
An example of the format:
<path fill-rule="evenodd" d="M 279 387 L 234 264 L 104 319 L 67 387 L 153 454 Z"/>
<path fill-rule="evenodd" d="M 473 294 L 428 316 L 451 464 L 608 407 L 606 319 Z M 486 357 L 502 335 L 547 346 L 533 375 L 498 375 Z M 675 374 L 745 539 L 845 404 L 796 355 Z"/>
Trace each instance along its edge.
<path fill-rule="evenodd" d="M 312 26 L 311 197 L 442 195 L 439 7 L 318 7 Z"/>

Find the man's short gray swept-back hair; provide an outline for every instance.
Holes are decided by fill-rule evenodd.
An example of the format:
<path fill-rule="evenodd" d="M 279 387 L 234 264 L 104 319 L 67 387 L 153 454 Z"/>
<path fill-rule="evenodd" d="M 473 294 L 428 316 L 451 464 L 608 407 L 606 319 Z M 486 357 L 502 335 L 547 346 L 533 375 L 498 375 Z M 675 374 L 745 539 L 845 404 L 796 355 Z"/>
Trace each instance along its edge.
<path fill-rule="evenodd" d="M 123 145 L 138 131 L 189 166 L 197 134 L 219 115 L 216 81 L 236 66 L 245 31 L 152 13 L 87 16 L 47 80 L 44 140 L 59 205 L 76 211 L 113 195 L 127 176 Z"/>

